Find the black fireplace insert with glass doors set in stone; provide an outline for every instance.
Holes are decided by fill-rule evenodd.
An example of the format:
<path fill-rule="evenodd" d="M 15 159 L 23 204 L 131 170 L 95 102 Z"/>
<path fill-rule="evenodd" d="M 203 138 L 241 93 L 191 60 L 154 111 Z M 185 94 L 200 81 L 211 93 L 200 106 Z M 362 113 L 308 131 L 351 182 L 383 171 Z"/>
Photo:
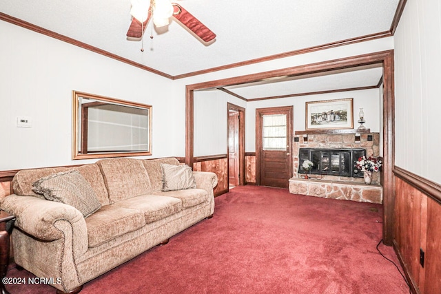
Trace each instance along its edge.
<path fill-rule="evenodd" d="M 314 165 L 310 174 L 360 178 L 363 174 L 355 168 L 355 165 L 358 158 L 366 156 L 366 149 L 300 148 L 298 156 L 300 174 L 307 173 L 303 170 L 302 163 L 311 160 Z"/>

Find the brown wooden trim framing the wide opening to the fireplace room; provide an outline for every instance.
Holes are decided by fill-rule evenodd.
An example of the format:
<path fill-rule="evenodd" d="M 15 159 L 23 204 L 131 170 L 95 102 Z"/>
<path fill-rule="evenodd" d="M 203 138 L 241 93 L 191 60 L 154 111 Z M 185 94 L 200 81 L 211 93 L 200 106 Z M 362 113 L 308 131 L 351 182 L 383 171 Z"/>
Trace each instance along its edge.
<path fill-rule="evenodd" d="M 395 202 L 395 176 L 393 174 L 393 166 L 395 165 L 393 50 L 186 85 L 185 163 L 192 167 L 194 162 L 194 91 L 252 83 L 276 76 L 303 76 L 331 71 L 345 72 L 352 67 L 378 63 L 383 67 L 383 242 L 391 246 L 393 244 L 393 204 Z"/>

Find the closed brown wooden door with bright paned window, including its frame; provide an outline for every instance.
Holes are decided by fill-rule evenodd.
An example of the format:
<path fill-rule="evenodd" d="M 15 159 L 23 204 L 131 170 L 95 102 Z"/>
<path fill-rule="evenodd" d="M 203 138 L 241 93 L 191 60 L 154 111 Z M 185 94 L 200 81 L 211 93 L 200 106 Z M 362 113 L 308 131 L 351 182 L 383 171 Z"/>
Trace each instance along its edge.
<path fill-rule="evenodd" d="M 256 109 L 256 185 L 289 186 L 293 120 L 292 106 Z"/>

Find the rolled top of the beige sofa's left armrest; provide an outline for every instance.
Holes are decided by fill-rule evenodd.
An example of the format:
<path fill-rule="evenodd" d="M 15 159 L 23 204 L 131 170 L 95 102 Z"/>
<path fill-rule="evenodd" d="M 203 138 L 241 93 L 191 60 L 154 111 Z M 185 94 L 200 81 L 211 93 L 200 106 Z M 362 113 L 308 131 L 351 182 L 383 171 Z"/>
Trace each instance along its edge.
<path fill-rule="evenodd" d="M 15 216 L 15 227 L 44 241 L 63 238 L 65 234 L 59 229 L 61 226 L 57 226 L 57 221 L 68 221 L 72 224 L 72 233 L 85 240 L 87 250 L 88 232 L 85 220 L 81 212 L 70 205 L 12 194 L 3 199 L 1 209 Z"/>

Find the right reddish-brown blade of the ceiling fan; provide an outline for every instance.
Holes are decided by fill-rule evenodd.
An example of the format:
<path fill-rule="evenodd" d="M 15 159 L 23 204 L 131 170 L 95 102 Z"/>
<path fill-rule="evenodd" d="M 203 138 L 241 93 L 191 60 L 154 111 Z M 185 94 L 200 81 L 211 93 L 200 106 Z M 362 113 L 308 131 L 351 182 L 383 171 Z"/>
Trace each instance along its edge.
<path fill-rule="evenodd" d="M 216 38 L 216 34 L 209 30 L 201 21 L 196 19 L 191 13 L 185 10 L 182 6 L 172 3 L 174 11 L 173 17 L 180 23 L 185 25 L 189 30 L 194 32 L 196 36 L 201 38 L 204 42 L 209 42 Z"/>

